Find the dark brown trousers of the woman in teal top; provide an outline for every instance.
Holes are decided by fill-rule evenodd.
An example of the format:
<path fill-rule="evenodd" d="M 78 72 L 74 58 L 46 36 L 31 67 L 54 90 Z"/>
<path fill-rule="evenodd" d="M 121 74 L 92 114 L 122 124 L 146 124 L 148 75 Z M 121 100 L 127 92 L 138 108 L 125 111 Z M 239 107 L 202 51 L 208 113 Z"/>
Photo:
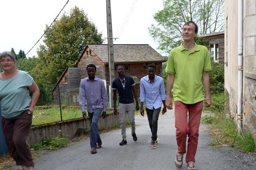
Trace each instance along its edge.
<path fill-rule="evenodd" d="M 33 164 L 32 154 L 26 138 L 32 124 L 32 113 L 23 111 L 11 119 L 2 117 L 2 128 L 9 153 L 17 165 L 30 166 Z"/>

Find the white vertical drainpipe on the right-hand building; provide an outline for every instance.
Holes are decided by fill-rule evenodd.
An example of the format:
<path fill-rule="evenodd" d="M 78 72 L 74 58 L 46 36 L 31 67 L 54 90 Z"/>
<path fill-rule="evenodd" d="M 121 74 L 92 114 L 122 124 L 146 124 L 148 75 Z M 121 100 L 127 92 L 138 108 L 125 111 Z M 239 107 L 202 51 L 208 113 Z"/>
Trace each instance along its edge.
<path fill-rule="evenodd" d="M 243 0 L 238 0 L 238 104 L 237 127 L 242 132 L 242 91 L 243 91 Z"/>

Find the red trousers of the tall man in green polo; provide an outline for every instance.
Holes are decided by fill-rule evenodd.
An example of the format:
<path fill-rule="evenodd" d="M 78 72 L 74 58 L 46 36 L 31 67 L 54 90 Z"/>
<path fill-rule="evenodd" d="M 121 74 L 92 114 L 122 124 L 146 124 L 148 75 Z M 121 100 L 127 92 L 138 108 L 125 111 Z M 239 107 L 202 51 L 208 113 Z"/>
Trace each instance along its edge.
<path fill-rule="evenodd" d="M 178 153 L 186 153 L 186 162 L 194 161 L 198 145 L 199 125 L 203 109 L 203 101 L 185 104 L 175 101 L 175 127 Z M 188 146 L 186 151 L 186 138 Z"/>

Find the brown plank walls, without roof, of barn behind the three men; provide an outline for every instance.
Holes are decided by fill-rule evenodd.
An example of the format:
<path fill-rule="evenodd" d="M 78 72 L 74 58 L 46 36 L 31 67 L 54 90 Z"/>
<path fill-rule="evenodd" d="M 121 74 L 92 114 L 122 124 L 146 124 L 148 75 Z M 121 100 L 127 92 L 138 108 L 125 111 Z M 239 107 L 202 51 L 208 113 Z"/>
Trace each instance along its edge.
<path fill-rule="evenodd" d="M 106 87 L 107 87 L 108 98 L 109 98 L 108 65 L 105 65 L 104 62 L 93 51 L 91 51 L 91 55 L 87 55 L 86 53 L 87 50 L 91 50 L 91 49 L 87 47 L 84 54 L 82 54 L 80 61 L 77 63 L 78 68 L 69 68 L 59 82 L 60 93 L 63 94 L 61 96 L 61 103 L 63 102 L 73 103 L 73 98 L 72 98 L 73 94 L 79 93 L 80 81 L 81 79 L 84 79 L 87 77 L 86 67 L 90 63 L 96 65 L 96 68 L 97 68 L 96 77 L 106 80 Z M 157 71 L 155 74 L 162 76 L 162 62 L 148 62 L 147 64 L 150 64 L 150 63 L 156 63 Z M 115 65 L 124 65 L 124 64 L 115 63 Z M 130 63 L 130 69 L 125 70 L 125 74 L 137 76 L 138 79 L 140 80 L 142 77 L 146 76 L 148 73 L 146 69 L 145 70 L 143 69 L 143 63 Z M 65 84 L 64 82 L 64 77 L 67 77 L 67 84 Z M 115 77 L 118 77 L 117 71 L 115 71 Z M 139 97 L 140 85 L 137 84 L 135 88 L 137 91 L 137 96 Z M 68 101 L 64 101 L 67 98 L 67 94 L 68 94 Z M 58 88 L 55 88 L 54 90 L 54 99 L 55 99 L 55 104 L 58 104 Z"/>

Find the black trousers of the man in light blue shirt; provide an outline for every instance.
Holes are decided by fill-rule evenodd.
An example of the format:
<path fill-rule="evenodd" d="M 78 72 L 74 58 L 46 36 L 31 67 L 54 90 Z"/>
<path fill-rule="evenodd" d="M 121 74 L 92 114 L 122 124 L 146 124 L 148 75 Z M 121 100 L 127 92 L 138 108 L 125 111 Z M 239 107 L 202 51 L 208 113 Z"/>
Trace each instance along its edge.
<path fill-rule="evenodd" d="M 157 121 L 158 121 L 160 110 L 161 110 L 161 107 L 157 109 L 153 108 L 153 110 L 146 108 L 148 123 L 152 133 L 151 140 L 154 142 L 157 140 Z"/>

